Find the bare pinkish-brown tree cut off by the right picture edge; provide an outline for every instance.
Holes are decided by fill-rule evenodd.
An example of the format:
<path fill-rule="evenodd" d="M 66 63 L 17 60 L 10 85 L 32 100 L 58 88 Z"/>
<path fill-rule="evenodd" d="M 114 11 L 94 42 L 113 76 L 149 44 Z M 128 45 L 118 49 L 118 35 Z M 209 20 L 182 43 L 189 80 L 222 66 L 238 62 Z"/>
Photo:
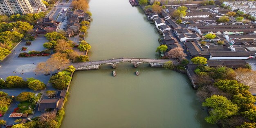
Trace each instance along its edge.
<path fill-rule="evenodd" d="M 248 68 L 241 68 L 235 70 L 236 81 L 249 86 L 249 88 L 256 88 L 256 71 L 252 71 Z"/>

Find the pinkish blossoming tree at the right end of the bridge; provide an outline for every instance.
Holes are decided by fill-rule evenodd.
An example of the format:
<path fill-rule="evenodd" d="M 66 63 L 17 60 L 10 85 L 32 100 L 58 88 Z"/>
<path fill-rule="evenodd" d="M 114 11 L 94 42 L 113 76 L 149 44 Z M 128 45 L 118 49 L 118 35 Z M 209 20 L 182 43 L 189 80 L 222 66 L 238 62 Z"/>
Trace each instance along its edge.
<path fill-rule="evenodd" d="M 169 52 L 167 52 L 168 58 L 182 58 L 184 59 L 186 57 L 186 54 L 183 52 L 183 49 L 180 47 L 175 47 L 171 49 Z"/>

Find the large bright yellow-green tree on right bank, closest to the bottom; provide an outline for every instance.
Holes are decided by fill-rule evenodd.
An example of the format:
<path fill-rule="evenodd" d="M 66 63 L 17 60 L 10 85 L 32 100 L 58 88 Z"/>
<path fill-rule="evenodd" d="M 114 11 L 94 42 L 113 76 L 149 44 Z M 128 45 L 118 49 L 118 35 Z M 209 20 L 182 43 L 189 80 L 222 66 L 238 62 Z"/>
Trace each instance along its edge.
<path fill-rule="evenodd" d="M 212 95 L 210 98 L 205 99 L 202 106 L 213 108 L 209 111 L 210 117 L 205 120 L 209 124 L 216 124 L 220 119 L 226 119 L 230 116 L 238 114 L 238 106 L 228 100 L 226 97 L 219 95 Z"/>

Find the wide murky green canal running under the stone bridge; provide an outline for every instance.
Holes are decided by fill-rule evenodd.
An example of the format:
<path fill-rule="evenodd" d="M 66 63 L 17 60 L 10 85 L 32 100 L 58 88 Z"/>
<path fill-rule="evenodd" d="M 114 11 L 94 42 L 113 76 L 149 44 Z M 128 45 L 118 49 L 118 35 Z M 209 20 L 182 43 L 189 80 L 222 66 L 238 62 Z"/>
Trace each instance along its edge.
<path fill-rule="evenodd" d="M 90 0 L 90 60 L 157 58 L 160 36 L 129 0 Z M 131 63 L 74 73 L 61 128 L 215 128 L 185 74 Z M 136 76 L 135 71 L 140 75 Z"/>

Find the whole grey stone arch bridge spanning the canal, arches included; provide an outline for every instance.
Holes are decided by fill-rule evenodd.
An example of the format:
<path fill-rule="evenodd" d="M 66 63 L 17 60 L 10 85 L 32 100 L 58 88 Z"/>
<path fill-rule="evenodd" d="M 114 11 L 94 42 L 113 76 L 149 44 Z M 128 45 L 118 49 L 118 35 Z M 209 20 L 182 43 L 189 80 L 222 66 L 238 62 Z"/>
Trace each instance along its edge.
<path fill-rule="evenodd" d="M 76 70 L 94 70 L 99 69 L 100 65 L 111 65 L 113 68 L 116 68 L 117 64 L 123 62 L 130 62 L 137 67 L 140 63 L 149 63 L 150 67 L 163 67 L 164 63 L 167 61 L 171 61 L 168 59 L 150 59 L 150 58 L 116 58 L 109 60 L 101 60 L 101 61 L 89 61 L 89 62 L 77 62 L 70 63 L 73 65 Z"/>

